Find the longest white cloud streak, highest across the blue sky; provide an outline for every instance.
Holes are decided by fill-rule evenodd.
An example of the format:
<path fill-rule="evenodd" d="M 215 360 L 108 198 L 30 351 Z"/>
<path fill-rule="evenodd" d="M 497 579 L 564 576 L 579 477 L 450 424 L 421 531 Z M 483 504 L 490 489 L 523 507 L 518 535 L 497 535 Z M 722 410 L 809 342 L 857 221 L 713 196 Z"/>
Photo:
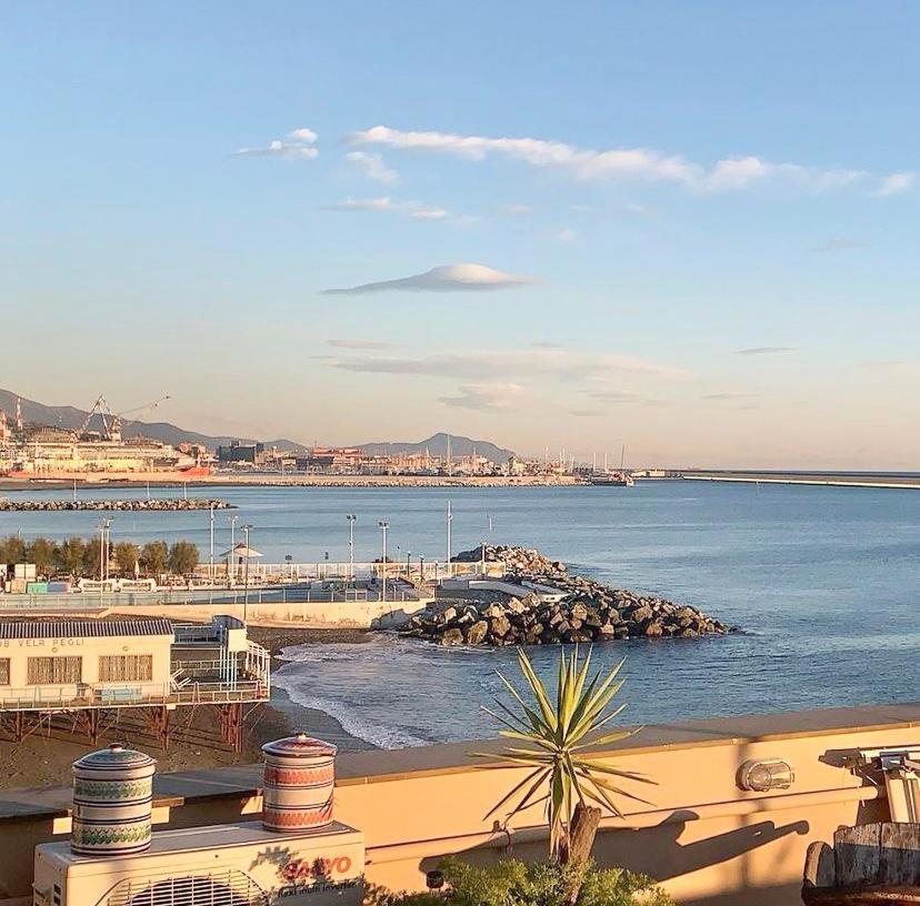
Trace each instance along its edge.
<path fill-rule="evenodd" d="M 707 167 L 680 154 L 648 148 L 591 149 L 544 139 L 404 131 L 387 125 L 352 132 L 346 137 L 346 141 L 357 145 L 451 154 L 471 161 L 499 155 L 530 167 L 564 170 L 577 179 L 673 182 L 698 191 L 712 192 L 748 189 L 771 180 L 786 180 L 808 191 L 822 192 L 850 185 L 870 175 L 864 170 L 773 163 L 756 155 L 729 157 Z M 892 174 L 883 179 L 888 182 L 904 174 Z M 902 180 L 894 184 L 900 185 L 901 182 Z"/>

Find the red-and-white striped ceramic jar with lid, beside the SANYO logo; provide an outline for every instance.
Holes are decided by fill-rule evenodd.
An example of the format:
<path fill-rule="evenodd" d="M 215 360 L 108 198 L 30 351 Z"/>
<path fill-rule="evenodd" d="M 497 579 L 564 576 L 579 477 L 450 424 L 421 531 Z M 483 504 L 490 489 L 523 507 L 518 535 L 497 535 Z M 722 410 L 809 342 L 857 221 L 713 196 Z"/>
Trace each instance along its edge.
<path fill-rule="evenodd" d="M 336 746 L 298 733 L 266 743 L 262 825 L 307 830 L 332 823 Z"/>

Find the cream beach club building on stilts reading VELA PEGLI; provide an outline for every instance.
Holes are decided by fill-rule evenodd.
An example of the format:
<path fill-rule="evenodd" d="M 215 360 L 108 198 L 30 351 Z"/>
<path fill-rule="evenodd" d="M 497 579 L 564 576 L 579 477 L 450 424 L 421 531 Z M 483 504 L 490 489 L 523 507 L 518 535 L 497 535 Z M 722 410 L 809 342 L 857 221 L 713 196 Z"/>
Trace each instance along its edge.
<path fill-rule="evenodd" d="M 141 708 L 168 744 L 172 712 L 204 705 L 239 748 L 243 705 L 268 697 L 269 654 L 232 616 L 0 624 L 0 732 L 16 739 L 67 714 L 96 741 L 112 712 Z"/>

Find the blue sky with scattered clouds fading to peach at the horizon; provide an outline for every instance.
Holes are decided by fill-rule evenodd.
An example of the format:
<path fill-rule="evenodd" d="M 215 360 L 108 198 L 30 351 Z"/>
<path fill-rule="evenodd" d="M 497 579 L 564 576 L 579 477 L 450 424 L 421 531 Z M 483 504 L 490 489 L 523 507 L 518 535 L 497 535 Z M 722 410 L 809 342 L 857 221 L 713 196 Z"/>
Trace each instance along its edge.
<path fill-rule="evenodd" d="M 0 386 L 917 470 L 918 37 L 884 1 L 13 0 Z"/>

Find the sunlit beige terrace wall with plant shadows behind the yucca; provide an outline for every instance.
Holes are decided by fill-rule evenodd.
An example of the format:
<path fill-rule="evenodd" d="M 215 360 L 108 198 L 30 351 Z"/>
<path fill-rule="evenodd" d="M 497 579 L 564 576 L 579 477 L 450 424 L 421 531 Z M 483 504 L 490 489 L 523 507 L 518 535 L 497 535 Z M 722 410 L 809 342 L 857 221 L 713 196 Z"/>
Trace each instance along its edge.
<path fill-rule="evenodd" d="M 920 705 L 648 727 L 602 756 L 656 785 L 640 789 L 648 804 L 623 802 L 624 819 L 604 819 L 594 855 L 602 865 L 653 875 L 681 904 L 799 904 L 808 844 L 829 840 L 839 825 L 888 814 L 883 784 L 857 776 L 843 766 L 847 757 L 859 748 L 910 744 L 920 744 Z M 539 811 L 519 817 L 509 833 L 494 833 L 493 822 L 484 818 L 521 776 L 517 768 L 478 766 L 468 756 L 470 749 L 493 746 L 470 743 L 339 757 L 337 818 L 364 832 L 371 885 L 421 888 L 424 872 L 442 856 L 463 853 L 476 862 L 492 860 L 509 852 L 509 843 L 516 856 L 546 855 Z M 791 788 L 742 792 L 738 769 L 753 757 L 788 761 L 796 772 Z M 232 781 L 226 793 L 220 792 L 222 778 Z M 259 808 L 256 769 L 161 781 L 163 789 L 183 791 L 168 817 L 160 813 L 170 826 L 226 822 Z M 67 824 L 59 819 L 56 832 L 66 833 Z M 48 818 L 38 815 L 0 824 L 0 846 L 14 854 L 0 865 L 0 890 L 22 895 L 23 872 L 16 866 L 28 864 L 30 847 L 47 827 Z"/>

